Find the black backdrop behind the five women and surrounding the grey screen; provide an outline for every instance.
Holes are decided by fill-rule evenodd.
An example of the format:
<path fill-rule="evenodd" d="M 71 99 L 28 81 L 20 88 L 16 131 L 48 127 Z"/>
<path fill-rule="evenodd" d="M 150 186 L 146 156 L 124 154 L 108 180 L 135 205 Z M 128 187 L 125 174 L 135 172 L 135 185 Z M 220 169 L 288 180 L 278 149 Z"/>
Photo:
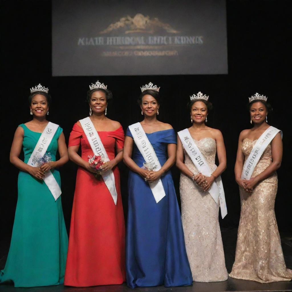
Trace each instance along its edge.
<path fill-rule="evenodd" d="M 53 104 L 48 119 L 61 125 L 68 141 L 73 124 L 89 113 L 85 102 L 86 91 L 97 79 L 112 90 L 114 102 L 108 108 L 108 117 L 120 121 L 124 130 L 129 124 L 142 120 L 136 100 L 140 86 L 149 81 L 161 86 L 163 102 L 159 119 L 173 125 L 176 131 L 191 125 L 186 108 L 189 96 L 198 91 L 209 95 L 214 110 L 209 114 L 207 124 L 222 131 L 227 150 L 227 170 L 222 179 L 228 215 L 224 220 L 220 218 L 223 227 L 236 227 L 239 222 L 239 190 L 234 181 L 233 168 L 238 135 L 242 129 L 251 126 L 246 109 L 248 96 L 256 92 L 267 95 L 274 107 L 268 121 L 283 130 L 284 134 L 276 217 L 280 230 L 291 230 L 291 96 L 290 74 L 287 73 L 287 69 L 291 68 L 291 48 L 287 45 L 290 38 L 290 1 L 227 0 L 226 4 L 228 75 L 52 77 L 51 1 L 2 1 L 1 56 L 5 76 L 1 86 L 1 236 L 10 235 L 13 226 L 18 170 L 9 163 L 9 150 L 17 126 L 31 119 L 27 104 L 29 88 L 39 83 L 49 87 Z M 143 74 L 143 67 L 140 74 Z M 127 214 L 128 173 L 123 163 L 119 168 L 124 211 Z M 67 227 L 70 224 L 76 171 L 77 167 L 72 162 L 60 170 Z M 180 202 L 179 171 L 175 167 L 172 171 Z"/>

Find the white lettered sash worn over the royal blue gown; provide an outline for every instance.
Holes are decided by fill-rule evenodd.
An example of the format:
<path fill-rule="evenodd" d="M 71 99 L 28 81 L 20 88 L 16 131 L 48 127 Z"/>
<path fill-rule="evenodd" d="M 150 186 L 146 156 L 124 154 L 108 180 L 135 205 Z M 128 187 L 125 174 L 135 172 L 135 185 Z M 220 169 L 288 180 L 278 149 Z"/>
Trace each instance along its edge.
<path fill-rule="evenodd" d="M 155 171 L 159 170 L 161 168 L 161 165 L 141 124 L 135 123 L 129 126 L 129 129 L 132 133 L 134 142 L 140 153 L 142 154 L 144 160 L 150 163 Z M 158 203 L 163 197 L 166 196 L 161 179 L 156 180 L 153 183 L 149 183 L 149 186 L 156 203 Z"/>

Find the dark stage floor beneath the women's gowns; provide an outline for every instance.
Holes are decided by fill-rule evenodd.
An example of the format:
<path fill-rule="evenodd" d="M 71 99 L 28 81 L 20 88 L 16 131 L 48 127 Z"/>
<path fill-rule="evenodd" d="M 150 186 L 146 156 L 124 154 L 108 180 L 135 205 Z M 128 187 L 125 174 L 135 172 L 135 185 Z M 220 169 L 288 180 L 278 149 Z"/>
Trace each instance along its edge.
<path fill-rule="evenodd" d="M 225 262 L 227 271 L 230 272 L 232 264 L 234 262 L 237 229 L 224 228 L 221 230 L 222 240 L 225 252 Z M 292 269 L 292 233 L 280 232 L 281 243 L 284 253 L 284 258 L 287 268 Z M 0 270 L 4 268 L 10 239 L 4 239 L 0 242 Z M 95 286 L 95 287 L 67 287 L 63 285 L 48 286 L 48 287 L 36 287 L 36 288 L 14 288 L 13 285 L 0 285 L 0 291 L 7 292 L 223 292 L 223 291 L 292 291 L 292 281 L 282 281 L 268 284 L 261 284 L 254 281 L 237 280 L 228 277 L 224 282 L 213 283 L 199 283 L 193 282 L 192 286 L 186 287 L 172 287 L 165 288 L 159 287 L 147 287 L 147 288 L 135 288 L 134 290 L 128 288 L 126 284 L 122 285 L 110 285 L 110 286 Z"/>

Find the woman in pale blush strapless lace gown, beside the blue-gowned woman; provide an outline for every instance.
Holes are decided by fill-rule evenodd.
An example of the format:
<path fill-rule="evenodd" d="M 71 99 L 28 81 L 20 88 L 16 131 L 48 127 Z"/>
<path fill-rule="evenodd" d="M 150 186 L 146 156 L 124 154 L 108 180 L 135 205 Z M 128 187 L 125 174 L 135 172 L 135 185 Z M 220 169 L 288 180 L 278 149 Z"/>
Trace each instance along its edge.
<path fill-rule="evenodd" d="M 218 221 L 220 205 L 222 217 L 227 214 L 223 186 L 219 191 L 220 174 L 226 168 L 225 145 L 221 132 L 205 124 L 212 108 L 208 96 L 192 95 L 188 107 L 192 126 L 178 133 L 176 152 L 187 256 L 194 281 L 225 281 L 228 274 Z"/>

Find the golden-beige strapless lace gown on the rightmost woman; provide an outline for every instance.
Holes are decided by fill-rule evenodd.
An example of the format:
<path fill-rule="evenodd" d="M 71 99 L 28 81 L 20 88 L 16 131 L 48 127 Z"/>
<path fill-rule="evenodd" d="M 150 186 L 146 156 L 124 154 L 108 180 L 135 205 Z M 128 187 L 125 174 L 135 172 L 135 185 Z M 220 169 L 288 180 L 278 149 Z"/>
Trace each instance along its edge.
<path fill-rule="evenodd" d="M 242 152 L 247 159 L 255 141 L 244 139 Z M 268 145 L 252 178 L 263 172 L 272 162 Z M 237 234 L 235 262 L 230 277 L 270 283 L 290 281 L 292 270 L 286 269 L 274 205 L 278 188 L 277 173 L 260 182 L 251 193 L 239 187 L 241 213 Z"/>

